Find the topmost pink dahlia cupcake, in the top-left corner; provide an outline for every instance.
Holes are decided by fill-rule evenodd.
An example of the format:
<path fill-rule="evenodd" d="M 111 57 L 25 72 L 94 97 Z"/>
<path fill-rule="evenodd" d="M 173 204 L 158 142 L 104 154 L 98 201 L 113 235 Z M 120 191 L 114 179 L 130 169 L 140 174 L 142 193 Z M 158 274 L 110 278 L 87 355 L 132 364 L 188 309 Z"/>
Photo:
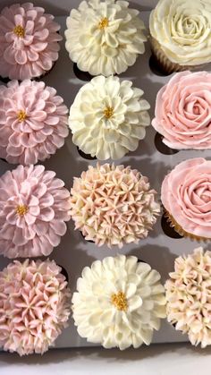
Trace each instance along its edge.
<path fill-rule="evenodd" d="M 60 26 L 31 3 L 13 4 L 0 14 L 0 75 L 11 80 L 39 77 L 58 59 Z"/>

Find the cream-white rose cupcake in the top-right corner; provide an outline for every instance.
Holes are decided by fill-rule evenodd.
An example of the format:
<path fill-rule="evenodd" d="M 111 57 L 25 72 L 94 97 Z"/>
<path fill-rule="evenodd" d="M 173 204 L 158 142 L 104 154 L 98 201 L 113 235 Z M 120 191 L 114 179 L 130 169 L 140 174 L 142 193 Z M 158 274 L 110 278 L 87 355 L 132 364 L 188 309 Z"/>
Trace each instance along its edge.
<path fill-rule="evenodd" d="M 153 55 L 166 73 L 211 62 L 211 4 L 159 0 L 149 19 Z"/>

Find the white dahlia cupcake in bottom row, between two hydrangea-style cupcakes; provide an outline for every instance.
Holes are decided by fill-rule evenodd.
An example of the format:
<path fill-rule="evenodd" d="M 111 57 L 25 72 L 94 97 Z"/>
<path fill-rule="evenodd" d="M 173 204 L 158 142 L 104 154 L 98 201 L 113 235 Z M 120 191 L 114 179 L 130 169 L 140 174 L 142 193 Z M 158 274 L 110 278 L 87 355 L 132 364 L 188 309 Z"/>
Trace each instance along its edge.
<path fill-rule="evenodd" d="M 138 348 L 151 343 L 165 318 L 165 288 L 160 274 L 136 257 L 107 257 L 83 269 L 72 311 L 79 335 L 89 343 Z"/>

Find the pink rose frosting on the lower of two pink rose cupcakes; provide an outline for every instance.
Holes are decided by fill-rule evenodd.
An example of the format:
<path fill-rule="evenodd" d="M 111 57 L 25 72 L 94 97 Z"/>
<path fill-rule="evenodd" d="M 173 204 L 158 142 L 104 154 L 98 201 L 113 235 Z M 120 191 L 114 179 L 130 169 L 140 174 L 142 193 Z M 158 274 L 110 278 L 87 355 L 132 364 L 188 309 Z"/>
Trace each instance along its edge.
<path fill-rule="evenodd" d="M 161 200 L 188 234 L 211 238 L 211 160 L 192 158 L 165 176 Z"/>

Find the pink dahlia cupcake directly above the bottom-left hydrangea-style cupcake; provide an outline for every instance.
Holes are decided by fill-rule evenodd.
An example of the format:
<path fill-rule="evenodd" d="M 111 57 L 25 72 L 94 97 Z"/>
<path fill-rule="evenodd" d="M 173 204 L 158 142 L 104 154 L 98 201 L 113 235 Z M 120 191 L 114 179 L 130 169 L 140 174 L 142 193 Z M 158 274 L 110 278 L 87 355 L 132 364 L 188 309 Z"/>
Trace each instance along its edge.
<path fill-rule="evenodd" d="M 18 166 L 0 178 L 0 254 L 49 255 L 66 232 L 70 193 L 44 166 Z"/>

